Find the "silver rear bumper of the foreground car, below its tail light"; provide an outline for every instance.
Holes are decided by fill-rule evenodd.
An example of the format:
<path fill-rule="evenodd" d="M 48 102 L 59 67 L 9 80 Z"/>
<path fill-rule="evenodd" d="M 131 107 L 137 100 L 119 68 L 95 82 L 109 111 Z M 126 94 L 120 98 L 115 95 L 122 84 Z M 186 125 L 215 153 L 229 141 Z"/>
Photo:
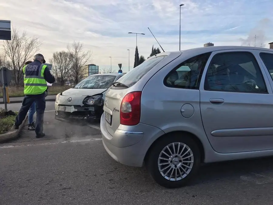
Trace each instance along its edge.
<path fill-rule="evenodd" d="M 106 130 L 105 123 L 103 113 L 100 120 L 100 130 L 104 148 L 114 160 L 128 166 L 142 167 L 150 145 L 164 134 L 156 127 L 139 124 L 138 130 L 118 129 L 112 136 Z"/>

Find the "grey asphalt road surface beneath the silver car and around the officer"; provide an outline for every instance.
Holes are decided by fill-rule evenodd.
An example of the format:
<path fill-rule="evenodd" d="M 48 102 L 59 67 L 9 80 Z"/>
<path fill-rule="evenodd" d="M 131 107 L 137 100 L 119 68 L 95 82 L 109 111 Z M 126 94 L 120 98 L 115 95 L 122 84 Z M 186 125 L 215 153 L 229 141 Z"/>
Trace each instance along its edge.
<path fill-rule="evenodd" d="M 54 102 L 46 102 L 50 111 Z M 13 105 L 19 108 L 20 105 Z M 90 127 L 91 126 L 91 127 Z M 98 124 L 67 123 L 45 113 L 46 136 L 0 145 L 0 204 L 263 204 L 273 201 L 273 158 L 201 167 L 190 186 L 165 189 L 144 168 L 115 162 Z"/>

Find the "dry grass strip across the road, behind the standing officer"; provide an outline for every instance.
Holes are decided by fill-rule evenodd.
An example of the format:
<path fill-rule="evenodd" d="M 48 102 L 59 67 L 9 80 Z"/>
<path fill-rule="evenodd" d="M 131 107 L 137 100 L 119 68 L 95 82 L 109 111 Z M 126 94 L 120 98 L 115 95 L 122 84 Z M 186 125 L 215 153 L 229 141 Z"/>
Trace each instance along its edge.
<path fill-rule="evenodd" d="M 67 89 L 71 88 L 71 86 L 49 86 L 48 95 L 57 95 L 60 92 L 63 92 Z M 24 87 L 8 87 L 8 95 L 10 98 L 12 97 L 23 97 L 24 96 Z M 3 97 L 3 87 L 1 87 L 0 97 Z"/>

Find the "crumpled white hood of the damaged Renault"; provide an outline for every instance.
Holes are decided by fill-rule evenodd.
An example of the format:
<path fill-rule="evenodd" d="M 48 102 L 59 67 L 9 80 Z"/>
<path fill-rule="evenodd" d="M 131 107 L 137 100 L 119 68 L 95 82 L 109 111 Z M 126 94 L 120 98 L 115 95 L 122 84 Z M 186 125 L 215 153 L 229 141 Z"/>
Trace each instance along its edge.
<path fill-rule="evenodd" d="M 83 105 L 83 99 L 86 96 L 93 96 L 105 92 L 107 89 L 75 89 L 70 88 L 59 96 L 59 105 Z M 103 95 L 104 96 L 104 95 Z M 68 99 L 71 98 L 71 102 L 68 102 Z M 103 97 L 104 99 L 104 97 Z"/>

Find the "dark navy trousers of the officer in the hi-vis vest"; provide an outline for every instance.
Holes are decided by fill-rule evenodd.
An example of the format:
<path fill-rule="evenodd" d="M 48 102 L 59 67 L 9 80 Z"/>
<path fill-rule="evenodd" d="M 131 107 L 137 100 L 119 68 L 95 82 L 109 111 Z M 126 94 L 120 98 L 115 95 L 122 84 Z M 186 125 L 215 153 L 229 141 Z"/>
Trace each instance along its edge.
<path fill-rule="evenodd" d="M 39 95 L 25 95 L 21 109 L 15 119 L 15 126 L 20 126 L 27 115 L 33 102 L 36 104 L 36 135 L 43 133 L 44 112 L 45 112 L 45 92 Z"/>

